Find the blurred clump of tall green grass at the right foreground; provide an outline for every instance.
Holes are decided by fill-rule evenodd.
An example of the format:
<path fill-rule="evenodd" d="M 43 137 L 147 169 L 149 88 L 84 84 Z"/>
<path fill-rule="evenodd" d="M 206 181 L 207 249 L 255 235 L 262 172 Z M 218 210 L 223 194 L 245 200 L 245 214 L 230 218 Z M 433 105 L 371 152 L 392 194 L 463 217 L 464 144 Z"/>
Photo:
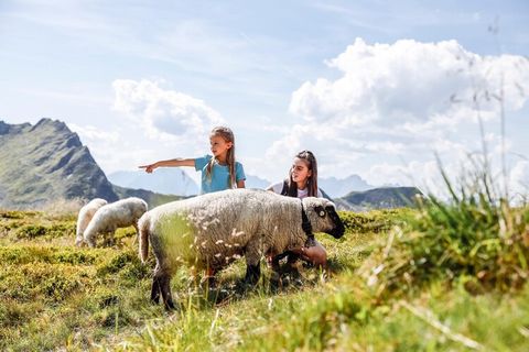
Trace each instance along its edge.
<path fill-rule="evenodd" d="M 529 208 L 496 200 L 487 173 L 476 173 L 458 194 L 442 175 L 450 201 L 430 196 L 419 217 L 404 231 L 393 231 L 361 274 L 377 284 L 378 294 L 434 279 L 477 283 L 474 292 L 521 287 L 529 275 Z"/>

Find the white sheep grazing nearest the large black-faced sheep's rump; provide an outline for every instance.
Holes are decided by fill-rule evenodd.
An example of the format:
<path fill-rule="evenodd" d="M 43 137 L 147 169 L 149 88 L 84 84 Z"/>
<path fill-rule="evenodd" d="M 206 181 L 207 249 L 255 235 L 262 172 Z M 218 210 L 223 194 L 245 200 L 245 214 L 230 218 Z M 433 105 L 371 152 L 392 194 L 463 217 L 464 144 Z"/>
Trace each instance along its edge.
<path fill-rule="evenodd" d="M 100 207 L 84 232 L 84 240 L 89 246 L 96 245 L 98 233 L 112 233 L 118 228 L 133 226 L 138 232 L 138 219 L 147 211 L 143 199 L 130 197 Z"/>

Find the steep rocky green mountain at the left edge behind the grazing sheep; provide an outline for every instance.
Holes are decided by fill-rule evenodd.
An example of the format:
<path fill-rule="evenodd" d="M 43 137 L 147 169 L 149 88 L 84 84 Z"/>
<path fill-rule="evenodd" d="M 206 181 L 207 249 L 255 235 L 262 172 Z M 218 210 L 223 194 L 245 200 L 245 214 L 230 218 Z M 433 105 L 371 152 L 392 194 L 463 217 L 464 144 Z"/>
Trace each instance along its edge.
<path fill-rule="evenodd" d="M 0 121 L 0 207 L 35 208 L 57 199 L 96 197 L 115 201 L 126 195 L 140 196 L 150 205 L 164 199 L 151 191 L 115 187 L 64 122 Z"/>

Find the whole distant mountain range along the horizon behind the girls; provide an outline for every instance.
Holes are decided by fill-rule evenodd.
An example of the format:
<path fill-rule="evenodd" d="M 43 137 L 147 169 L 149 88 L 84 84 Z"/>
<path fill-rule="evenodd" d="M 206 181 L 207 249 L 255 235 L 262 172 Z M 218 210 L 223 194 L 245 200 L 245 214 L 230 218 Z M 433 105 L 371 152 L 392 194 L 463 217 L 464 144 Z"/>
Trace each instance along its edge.
<path fill-rule="evenodd" d="M 271 183 L 247 175 L 247 188 L 266 188 Z M 357 175 L 345 179 L 321 178 L 320 188 L 341 209 L 366 210 L 410 204 L 413 187 L 373 188 Z M 0 121 L 0 207 L 35 208 L 57 199 L 114 201 L 137 196 L 149 205 L 192 196 L 198 186 L 180 168 L 117 172 L 108 176 L 93 158 L 78 135 L 61 121 L 42 119 L 30 123 Z M 175 196 L 176 195 L 176 196 Z"/>

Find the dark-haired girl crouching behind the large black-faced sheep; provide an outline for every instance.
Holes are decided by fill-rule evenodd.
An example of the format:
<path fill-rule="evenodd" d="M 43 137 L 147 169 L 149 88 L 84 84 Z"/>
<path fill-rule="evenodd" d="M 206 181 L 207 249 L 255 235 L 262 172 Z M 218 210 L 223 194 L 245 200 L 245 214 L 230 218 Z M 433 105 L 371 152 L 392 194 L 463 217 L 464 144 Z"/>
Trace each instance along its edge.
<path fill-rule="evenodd" d="M 323 198 L 322 191 L 317 188 L 317 163 L 311 151 L 302 151 L 294 156 L 289 172 L 289 178 L 282 183 L 271 185 L 267 188 L 276 194 L 303 199 L 305 197 Z M 301 257 L 316 267 L 327 265 L 327 253 L 323 245 L 314 241 L 311 246 L 294 249 L 289 253 L 288 263 L 293 264 Z M 278 265 L 278 258 L 272 258 L 272 265 Z"/>

